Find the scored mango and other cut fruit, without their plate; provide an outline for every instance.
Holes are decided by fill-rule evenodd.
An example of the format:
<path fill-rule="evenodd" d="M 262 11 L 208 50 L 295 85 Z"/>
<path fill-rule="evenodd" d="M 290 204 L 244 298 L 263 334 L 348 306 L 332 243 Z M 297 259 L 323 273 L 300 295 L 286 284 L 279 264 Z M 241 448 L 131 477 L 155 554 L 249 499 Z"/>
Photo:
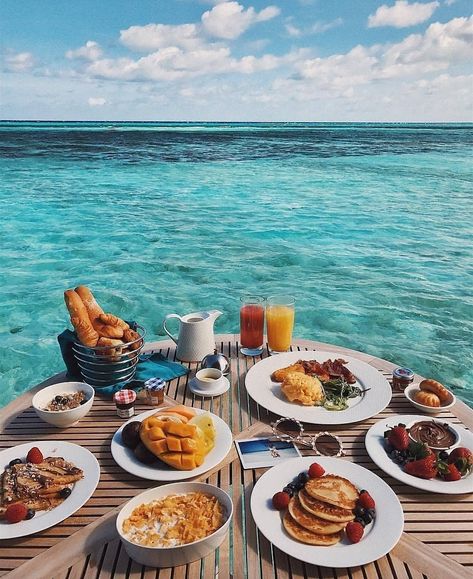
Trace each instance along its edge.
<path fill-rule="evenodd" d="M 178 470 L 201 466 L 215 446 L 215 437 L 210 414 L 197 414 L 183 405 L 166 408 L 141 422 L 129 422 L 122 431 L 123 444 L 140 462 L 160 460 Z"/>

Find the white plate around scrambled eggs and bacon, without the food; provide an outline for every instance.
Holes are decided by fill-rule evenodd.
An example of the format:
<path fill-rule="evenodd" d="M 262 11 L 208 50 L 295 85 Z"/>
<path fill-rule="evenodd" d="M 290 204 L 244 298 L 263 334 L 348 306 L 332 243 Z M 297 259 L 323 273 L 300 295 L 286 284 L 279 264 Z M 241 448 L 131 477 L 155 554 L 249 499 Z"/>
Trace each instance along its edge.
<path fill-rule="evenodd" d="M 281 392 L 281 384 L 271 380 L 275 370 L 290 366 L 297 360 L 325 362 L 336 358 L 348 362 L 346 366 L 355 375 L 357 386 L 362 390 L 370 388 L 358 398 L 349 400 L 349 408 L 346 410 L 326 410 L 320 406 L 302 406 L 289 402 Z M 250 368 L 245 385 L 248 394 L 263 408 L 279 416 L 297 418 L 309 424 L 350 424 L 366 420 L 384 410 L 392 396 L 389 382 L 376 368 L 340 352 L 288 352 L 265 358 Z"/>

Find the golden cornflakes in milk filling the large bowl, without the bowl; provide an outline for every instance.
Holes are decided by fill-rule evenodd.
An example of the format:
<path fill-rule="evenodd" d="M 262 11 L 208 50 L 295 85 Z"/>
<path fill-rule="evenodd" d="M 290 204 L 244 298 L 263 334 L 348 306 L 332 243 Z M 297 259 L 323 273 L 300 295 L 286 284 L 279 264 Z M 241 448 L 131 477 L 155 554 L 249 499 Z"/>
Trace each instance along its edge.
<path fill-rule="evenodd" d="M 123 521 L 125 537 L 146 547 L 177 547 L 208 537 L 225 522 L 217 497 L 190 492 L 139 505 Z"/>

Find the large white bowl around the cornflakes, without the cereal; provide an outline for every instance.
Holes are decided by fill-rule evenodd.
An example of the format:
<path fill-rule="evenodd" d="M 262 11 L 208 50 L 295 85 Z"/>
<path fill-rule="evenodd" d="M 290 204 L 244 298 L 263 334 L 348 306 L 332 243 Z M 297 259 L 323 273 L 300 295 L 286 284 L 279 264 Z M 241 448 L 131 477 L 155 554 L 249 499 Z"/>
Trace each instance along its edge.
<path fill-rule="evenodd" d="M 224 511 L 226 512 L 226 521 L 220 529 L 215 531 L 215 533 L 212 533 L 208 537 L 200 539 L 199 541 L 176 547 L 145 547 L 143 545 L 138 545 L 137 543 L 132 543 L 124 536 L 122 530 L 123 521 L 127 519 L 131 515 L 133 509 L 139 505 L 149 503 L 167 495 L 191 492 L 201 492 L 214 495 L 223 506 Z M 210 555 L 212 551 L 219 547 L 225 539 L 232 515 L 232 500 L 222 489 L 219 489 L 214 485 L 199 482 L 172 483 L 149 489 L 131 499 L 131 501 L 129 501 L 118 514 L 117 531 L 125 547 L 125 551 L 128 553 L 129 557 L 137 563 L 147 565 L 148 567 L 176 567 L 178 565 L 187 565 L 187 563 L 202 559 L 203 557 Z"/>

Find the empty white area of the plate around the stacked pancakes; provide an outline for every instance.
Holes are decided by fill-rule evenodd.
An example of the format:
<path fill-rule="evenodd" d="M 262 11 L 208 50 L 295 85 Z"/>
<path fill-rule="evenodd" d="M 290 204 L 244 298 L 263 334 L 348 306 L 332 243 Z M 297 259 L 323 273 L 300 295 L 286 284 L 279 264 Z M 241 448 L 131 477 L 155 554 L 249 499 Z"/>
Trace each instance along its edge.
<path fill-rule="evenodd" d="M 271 498 L 313 462 L 321 464 L 327 474 L 342 476 L 360 490 L 366 489 L 375 500 L 376 518 L 366 526 L 359 543 L 352 544 L 344 537 L 331 547 L 305 545 L 284 530 L 281 513 L 272 507 Z M 291 458 L 266 471 L 253 489 L 251 513 L 258 529 L 281 551 L 306 563 L 324 567 L 354 567 L 375 561 L 391 551 L 404 527 L 399 500 L 382 479 L 362 466 L 325 456 Z"/>

